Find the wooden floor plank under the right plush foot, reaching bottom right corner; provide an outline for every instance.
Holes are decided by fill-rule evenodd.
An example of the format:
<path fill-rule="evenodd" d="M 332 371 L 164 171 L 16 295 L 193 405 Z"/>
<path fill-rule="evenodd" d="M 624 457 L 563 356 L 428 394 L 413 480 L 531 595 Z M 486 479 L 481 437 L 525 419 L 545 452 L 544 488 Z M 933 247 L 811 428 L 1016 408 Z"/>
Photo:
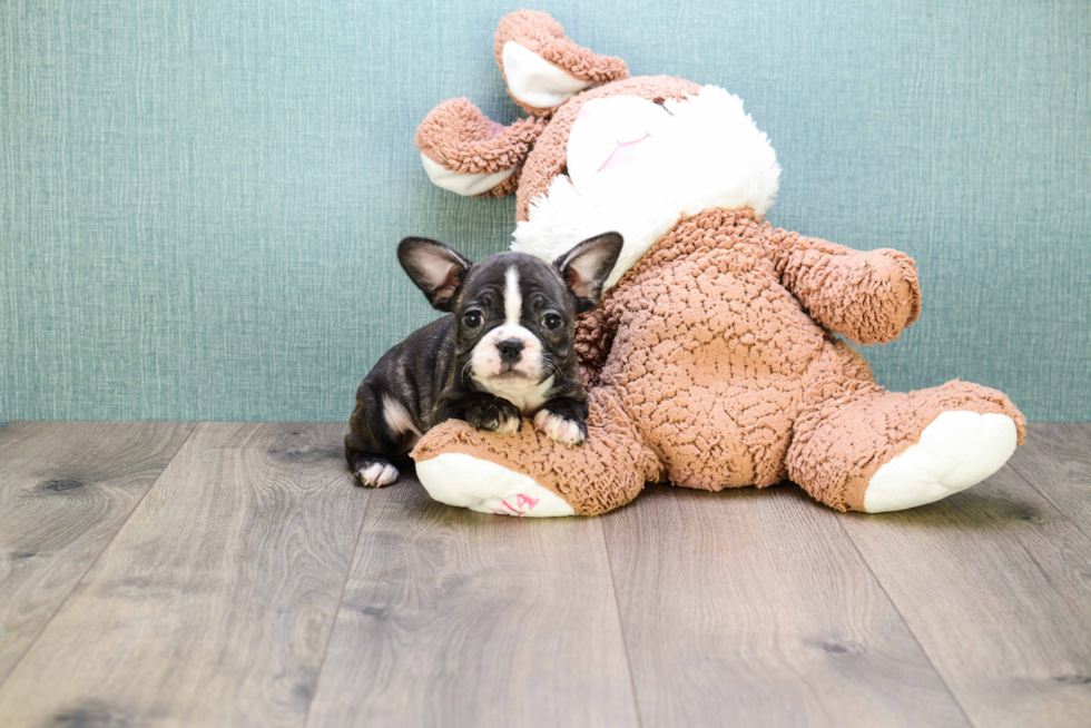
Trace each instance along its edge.
<path fill-rule="evenodd" d="M 1091 725 L 1091 540 L 1011 466 L 841 522 L 974 725 Z"/>

